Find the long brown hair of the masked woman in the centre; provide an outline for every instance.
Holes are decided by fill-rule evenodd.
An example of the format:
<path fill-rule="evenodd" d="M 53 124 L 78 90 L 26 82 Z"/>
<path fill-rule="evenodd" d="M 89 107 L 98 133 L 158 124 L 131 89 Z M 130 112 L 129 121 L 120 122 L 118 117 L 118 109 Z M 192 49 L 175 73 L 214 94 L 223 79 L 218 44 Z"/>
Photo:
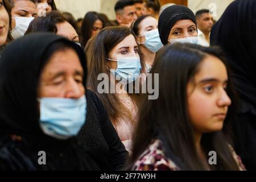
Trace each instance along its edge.
<path fill-rule="evenodd" d="M 101 81 L 97 80 L 97 77 L 100 73 L 109 74 L 109 71 L 105 68 L 106 58 L 109 57 L 110 51 L 129 35 L 132 34 L 127 27 L 106 27 L 102 29 L 97 36 L 90 39 L 85 47 L 86 56 L 88 58 L 88 70 L 90 71 L 87 82 L 88 88 L 96 92 L 98 97 L 100 97 L 114 125 L 118 123 L 118 118 L 128 118 L 131 122 L 134 122 L 134 118 L 131 113 L 127 111 L 125 105 L 119 101 L 117 94 L 98 93 L 97 88 Z M 142 63 L 142 69 L 143 68 L 144 65 Z M 135 104 L 138 104 L 138 94 L 129 94 L 129 96 Z"/>

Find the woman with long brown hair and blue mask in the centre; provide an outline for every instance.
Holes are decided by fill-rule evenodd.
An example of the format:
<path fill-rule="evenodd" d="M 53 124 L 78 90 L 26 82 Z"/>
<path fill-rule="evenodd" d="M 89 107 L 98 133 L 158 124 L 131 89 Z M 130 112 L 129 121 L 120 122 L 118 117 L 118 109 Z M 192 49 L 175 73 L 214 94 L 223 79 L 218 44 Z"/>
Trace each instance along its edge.
<path fill-rule="evenodd" d="M 85 51 L 88 87 L 101 98 L 119 138 L 130 150 L 140 97 L 129 86 L 144 70 L 135 38 L 127 27 L 107 27 L 90 39 Z"/>

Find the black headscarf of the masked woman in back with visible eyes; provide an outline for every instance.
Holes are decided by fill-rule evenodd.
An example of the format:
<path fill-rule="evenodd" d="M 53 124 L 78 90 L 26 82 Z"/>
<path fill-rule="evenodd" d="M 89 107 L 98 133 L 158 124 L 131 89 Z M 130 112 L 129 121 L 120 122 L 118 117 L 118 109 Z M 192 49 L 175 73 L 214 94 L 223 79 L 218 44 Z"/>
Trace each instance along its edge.
<path fill-rule="evenodd" d="M 174 24 L 182 19 L 191 19 L 196 24 L 196 16 L 187 6 L 173 5 L 162 12 L 158 20 L 158 31 L 164 45 L 168 43 L 168 36 Z"/>

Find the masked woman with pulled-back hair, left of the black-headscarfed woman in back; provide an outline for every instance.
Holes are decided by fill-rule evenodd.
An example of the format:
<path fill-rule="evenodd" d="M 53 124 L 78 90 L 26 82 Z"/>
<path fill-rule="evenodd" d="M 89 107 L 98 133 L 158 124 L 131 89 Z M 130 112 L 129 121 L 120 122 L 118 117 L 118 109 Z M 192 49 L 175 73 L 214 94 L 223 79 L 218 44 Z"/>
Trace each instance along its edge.
<path fill-rule="evenodd" d="M 135 20 L 131 26 L 131 30 L 136 35 L 141 59 L 146 64 L 147 72 L 150 72 L 156 52 L 163 47 L 159 38 L 158 21 L 151 15 L 143 15 Z"/>

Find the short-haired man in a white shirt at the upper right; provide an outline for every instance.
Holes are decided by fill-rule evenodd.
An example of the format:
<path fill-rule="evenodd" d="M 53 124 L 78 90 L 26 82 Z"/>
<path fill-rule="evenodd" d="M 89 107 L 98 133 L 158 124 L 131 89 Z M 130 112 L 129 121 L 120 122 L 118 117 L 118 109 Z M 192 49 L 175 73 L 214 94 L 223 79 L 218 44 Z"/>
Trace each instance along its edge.
<path fill-rule="evenodd" d="M 201 46 L 210 46 L 210 30 L 213 26 L 213 18 L 209 10 L 199 10 L 196 13 L 198 44 Z"/>

